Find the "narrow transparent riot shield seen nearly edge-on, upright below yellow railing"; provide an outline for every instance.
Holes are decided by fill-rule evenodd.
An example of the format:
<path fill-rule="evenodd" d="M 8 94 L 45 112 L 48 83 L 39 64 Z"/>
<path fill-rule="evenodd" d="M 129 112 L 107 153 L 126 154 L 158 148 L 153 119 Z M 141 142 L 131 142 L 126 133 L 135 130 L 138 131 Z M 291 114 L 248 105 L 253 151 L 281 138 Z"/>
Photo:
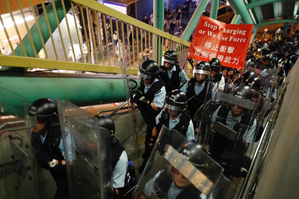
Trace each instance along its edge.
<path fill-rule="evenodd" d="M 132 127 L 135 153 L 137 154 L 137 156 L 139 156 L 139 146 L 138 146 L 137 133 L 136 133 L 136 113 L 135 113 L 135 109 L 134 109 L 134 105 L 133 105 L 133 95 L 132 95 L 132 86 L 131 86 L 130 76 L 129 76 L 129 72 L 127 70 L 128 62 L 127 62 L 126 50 L 123 45 L 120 45 L 120 52 L 121 52 L 121 61 L 120 61 L 121 74 L 122 74 L 122 78 L 124 80 L 126 98 L 127 98 L 127 102 L 128 102 L 128 109 L 129 109 L 129 114 L 130 114 L 130 118 L 131 118 L 130 122 L 131 122 L 131 127 Z"/>

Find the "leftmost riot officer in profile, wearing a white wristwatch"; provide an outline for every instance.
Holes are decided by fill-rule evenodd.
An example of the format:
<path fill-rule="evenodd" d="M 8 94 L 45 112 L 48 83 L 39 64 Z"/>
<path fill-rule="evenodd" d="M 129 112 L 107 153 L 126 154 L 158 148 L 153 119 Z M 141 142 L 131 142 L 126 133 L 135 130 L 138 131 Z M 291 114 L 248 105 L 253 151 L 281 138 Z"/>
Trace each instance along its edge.
<path fill-rule="evenodd" d="M 41 98 L 33 102 L 31 114 L 36 112 L 37 126 L 32 128 L 33 146 L 40 150 L 38 160 L 49 170 L 57 190 L 54 198 L 69 198 L 64 147 L 59 125 L 56 103 L 52 99 Z"/>

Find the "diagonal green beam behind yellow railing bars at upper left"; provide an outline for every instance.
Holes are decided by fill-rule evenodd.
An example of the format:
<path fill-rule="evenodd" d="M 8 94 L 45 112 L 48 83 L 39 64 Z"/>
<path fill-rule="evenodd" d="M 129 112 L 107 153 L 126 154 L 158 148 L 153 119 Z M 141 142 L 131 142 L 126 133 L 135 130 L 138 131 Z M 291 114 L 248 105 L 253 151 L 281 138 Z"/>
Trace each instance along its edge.
<path fill-rule="evenodd" d="M 68 11 L 71 8 L 71 4 L 70 4 L 69 1 L 64 1 L 64 6 L 65 6 L 66 11 Z M 60 23 L 64 19 L 64 12 L 63 12 L 63 8 L 62 8 L 61 0 L 55 0 L 55 7 L 56 7 L 56 11 L 57 11 L 58 20 L 59 20 L 59 23 Z M 49 19 L 49 24 L 50 24 L 50 27 L 51 27 L 50 31 L 53 33 L 57 28 L 57 23 L 56 23 L 56 19 L 55 19 L 55 14 L 54 14 L 52 2 L 50 2 L 49 5 L 46 7 L 46 12 L 47 12 L 48 19 Z M 44 43 L 46 43 L 48 41 L 48 39 L 50 38 L 50 33 L 49 33 L 49 29 L 48 29 L 47 22 L 46 22 L 46 19 L 45 19 L 45 14 L 42 13 L 38 17 L 37 21 L 38 21 L 39 26 L 40 26 L 40 31 L 41 31 Z M 40 50 L 43 48 L 43 45 L 42 45 L 42 42 L 40 40 L 40 36 L 38 34 L 36 24 L 34 24 L 31 27 L 30 34 L 31 34 L 36 52 L 39 53 Z M 28 34 L 25 35 L 25 37 L 22 39 L 22 42 L 24 44 L 27 56 L 28 57 L 35 57 Z M 24 52 L 21 48 L 21 44 L 19 44 L 17 46 L 17 48 L 15 49 L 15 53 L 16 53 L 17 56 L 23 56 L 23 57 L 25 56 Z M 0 70 L 24 71 L 24 70 L 26 70 L 26 68 L 2 67 Z"/>

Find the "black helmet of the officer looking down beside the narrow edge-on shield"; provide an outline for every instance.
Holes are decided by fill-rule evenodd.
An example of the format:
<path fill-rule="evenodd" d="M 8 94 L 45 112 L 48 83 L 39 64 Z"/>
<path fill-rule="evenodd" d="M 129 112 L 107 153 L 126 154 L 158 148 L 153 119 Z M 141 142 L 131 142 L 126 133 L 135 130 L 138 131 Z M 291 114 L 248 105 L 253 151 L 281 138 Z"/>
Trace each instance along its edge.
<path fill-rule="evenodd" d="M 157 77 L 158 72 L 159 66 L 157 62 L 155 62 L 154 60 L 146 60 L 139 67 L 138 76 L 145 79 L 150 79 L 150 83 L 152 83 Z"/>

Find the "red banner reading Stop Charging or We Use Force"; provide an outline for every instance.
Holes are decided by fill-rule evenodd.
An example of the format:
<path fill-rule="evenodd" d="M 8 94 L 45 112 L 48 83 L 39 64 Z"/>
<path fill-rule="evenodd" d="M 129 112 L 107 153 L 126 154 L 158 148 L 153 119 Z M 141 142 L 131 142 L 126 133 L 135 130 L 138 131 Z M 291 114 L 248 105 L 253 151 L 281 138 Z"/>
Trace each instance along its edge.
<path fill-rule="evenodd" d="M 225 24 L 201 16 L 189 48 L 190 57 L 208 61 L 218 58 L 221 65 L 243 68 L 253 24 Z"/>

